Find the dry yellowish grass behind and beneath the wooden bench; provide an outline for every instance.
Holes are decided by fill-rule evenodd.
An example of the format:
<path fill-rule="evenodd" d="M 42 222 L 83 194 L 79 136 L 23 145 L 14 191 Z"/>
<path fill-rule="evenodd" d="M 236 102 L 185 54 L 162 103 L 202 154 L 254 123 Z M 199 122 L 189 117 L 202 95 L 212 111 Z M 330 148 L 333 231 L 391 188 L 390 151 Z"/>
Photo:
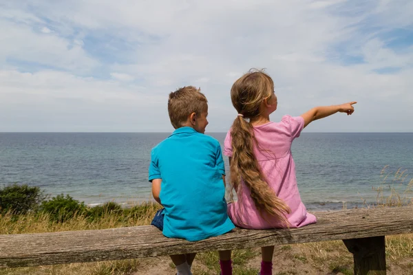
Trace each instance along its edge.
<path fill-rule="evenodd" d="M 388 171 L 388 166 L 386 166 L 381 172 L 381 178 L 381 186 L 374 188 L 377 192 L 377 203 L 373 207 L 413 205 L 413 179 L 407 181 L 405 170 L 399 169 L 391 173 Z M 125 211 L 105 212 L 98 219 L 90 219 L 82 214 L 76 214 L 75 217 L 63 223 L 52 221 L 47 214 L 28 213 L 21 216 L 10 213 L 0 214 L 0 234 L 98 230 L 147 225 L 159 208 L 156 203 L 142 203 Z M 406 270 L 406 272 L 410 270 L 411 272 L 413 270 L 413 234 L 388 236 L 385 238 L 385 244 L 386 261 L 390 265 L 390 271 L 393 270 L 391 266 L 396 265 L 401 270 Z M 131 259 L 0 269 L 0 275 L 129 275 L 142 274 L 142 269 L 154 265 L 165 265 L 167 270 L 173 272 L 173 265 L 168 265 L 171 261 L 168 258 L 165 259 L 166 263 L 165 261 L 159 263 L 159 259 Z M 273 274 L 291 275 L 306 274 L 307 272 L 310 272 L 309 274 L 353 274 L 352 254 L 348 252 L 342 241 L 282 245 L 276 248 L 274 259 L 274 264 L 281 266 L 279 267 L 281 270 L 277 270 Z M 256 275 L 259 271 L 259 265 L 260 249 L 233 251 L 233 274 Z M 299 267 L 301 267 L 301 270 L 297 271 Z M 219 271 L 217 252 L 206 252 L 197 255 L 193 266 L 193 274 L 219 274 Z"/>

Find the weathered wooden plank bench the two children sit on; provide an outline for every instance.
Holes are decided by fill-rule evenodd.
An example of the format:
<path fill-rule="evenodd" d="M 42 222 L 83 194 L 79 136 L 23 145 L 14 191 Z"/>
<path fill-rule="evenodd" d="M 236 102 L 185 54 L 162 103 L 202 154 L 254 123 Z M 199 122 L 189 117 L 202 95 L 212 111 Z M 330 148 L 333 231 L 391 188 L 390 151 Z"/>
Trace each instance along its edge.
<path fill-rule="evenodd" d="M 413 233 L 413 207 L 318 212 L 303 228 L 236 229 L 204 241 L 167 239 L 153 226 L 0 235 L 0 267 L 25 267 L 343 240 L 354 274 L 385 274 L 384 236 Z M 369 273 L 372 272 L 372 273 Z"/>

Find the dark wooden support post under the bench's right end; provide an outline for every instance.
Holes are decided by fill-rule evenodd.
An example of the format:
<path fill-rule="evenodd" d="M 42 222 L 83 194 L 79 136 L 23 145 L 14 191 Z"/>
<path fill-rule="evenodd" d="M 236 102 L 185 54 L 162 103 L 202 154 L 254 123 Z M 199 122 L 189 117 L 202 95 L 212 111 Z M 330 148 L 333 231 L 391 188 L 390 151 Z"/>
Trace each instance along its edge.
<path fill-rule="evenodd" d="M 354 257 L 354 275 L 385 275 L 384 236 L 343 240 Z"/>

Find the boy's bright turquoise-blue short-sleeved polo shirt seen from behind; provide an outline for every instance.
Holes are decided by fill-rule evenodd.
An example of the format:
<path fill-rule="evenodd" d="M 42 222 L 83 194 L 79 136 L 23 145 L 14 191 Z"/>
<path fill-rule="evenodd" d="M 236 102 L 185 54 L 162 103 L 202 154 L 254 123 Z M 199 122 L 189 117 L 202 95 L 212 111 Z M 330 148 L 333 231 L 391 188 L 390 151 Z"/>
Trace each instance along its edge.
<path fill-rule="evenodd" d="M 200 241 L 231 231 L 226 214 L 224 160 L 218 140 L 191 127 L 176 129 L 151 151 L 149 181 L 162 179 L 162 233 Z"/>

